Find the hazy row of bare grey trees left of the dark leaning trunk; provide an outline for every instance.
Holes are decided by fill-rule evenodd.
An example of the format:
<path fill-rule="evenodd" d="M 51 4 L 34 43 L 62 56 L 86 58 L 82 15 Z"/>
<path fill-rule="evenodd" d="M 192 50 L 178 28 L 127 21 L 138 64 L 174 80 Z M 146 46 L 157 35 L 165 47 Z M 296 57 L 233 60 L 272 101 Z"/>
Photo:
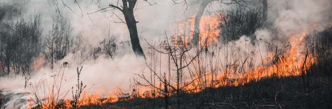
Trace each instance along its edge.
<path fill-rule="evenodd" d="M 70 21 L 61 17 L 48 29 L 43 27 L 41 14 L 2 21 L 0 28 L 0 76 L 21 74 L 31 78 L 41 63 L 53 69 L 68 54 L 74 54 L 77 64 L 101 54 L 113 59 L 118 48 L 117 37 L 110 34 L 99 46 L 88 45 L 80 34 L 74 33 Z M 36 59 L 42 62 L 36 63 Z"/>

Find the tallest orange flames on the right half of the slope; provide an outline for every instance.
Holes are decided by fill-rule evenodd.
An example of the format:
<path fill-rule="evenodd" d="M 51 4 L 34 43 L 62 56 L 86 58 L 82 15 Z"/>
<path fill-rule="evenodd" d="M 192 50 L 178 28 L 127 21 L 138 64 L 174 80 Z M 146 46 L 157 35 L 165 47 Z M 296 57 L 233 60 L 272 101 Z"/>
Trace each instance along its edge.
<path fill-rule="evenodd" d="M 233 75 L 238 71 L 237 66 L 230 66 L 228 70 L 219 72 L 219 76 L 213 79 L 211 71 L 204 73 L 205 78 L 196 79 L 192 84 L 188 85 L 185 90 L 195 90 L 189 93 L 197 93 L 202 91 L 206 87 L 222 87 L 222 86 L 238 86 L 248 83 L 250 81 L 257 81 L 265 77 L 286 77 L 297 76 L 302 73 L 306 74 L 306 70 L 316 61 L 316 57 L 305 52 L 301 54 L 301 50 L 304 48 L 303 38 L 306 37 L 306 33 L 292 35 L 288 41 L 290 45 L 286 48 L 286 52 L 281 56 L 275 54 L 268 54 L 263 59 L 263 64 L 256 66 L 253 70 L 245 70 L 240 75 Z M 271 60 L 271 57 L 276 58 Z M 195 78 L 201 78 L 198 75 Z"/>

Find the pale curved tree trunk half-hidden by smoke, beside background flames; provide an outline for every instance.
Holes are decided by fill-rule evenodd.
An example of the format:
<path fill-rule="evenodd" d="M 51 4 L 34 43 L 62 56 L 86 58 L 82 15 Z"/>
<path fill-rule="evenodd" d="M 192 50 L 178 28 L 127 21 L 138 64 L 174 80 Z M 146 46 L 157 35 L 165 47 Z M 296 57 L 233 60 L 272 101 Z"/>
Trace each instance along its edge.
<path fill-rule="evenodd" d="M 203 13 L 204 13 L 204 10 L 205 10 L 207 4 L 209 4 L 212 1 L 215 1 L 215 0 L 202 0 L 202 3 L 200 3 L 200 6 L 199 6 L 198 11 L 197 11 L 196 16 L 195 16 L 194 34 L 193 34 L 193 38 L 192 38 L 192 43 L 194 45 L 197 45 L 198 40 L 199 40 L 200 19 L 201 19 Z"/>

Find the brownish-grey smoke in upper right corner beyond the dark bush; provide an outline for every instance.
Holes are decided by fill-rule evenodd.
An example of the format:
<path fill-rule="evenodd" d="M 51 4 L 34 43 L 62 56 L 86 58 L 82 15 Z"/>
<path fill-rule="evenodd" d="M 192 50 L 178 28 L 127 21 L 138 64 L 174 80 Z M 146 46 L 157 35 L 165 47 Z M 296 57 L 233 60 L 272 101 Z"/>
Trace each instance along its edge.
<path fill-rule="evenodd" d="M 257 39 L 272 41 L 270 43 L 279 48 L 285 46 L 290 36 L 320 31 L 329 26 L 332 19 L 331 0 L 271 0 L 268 5 L 274 29 L 257 30 Z M 276 32 L 278 34 L 271 34 Z"/>

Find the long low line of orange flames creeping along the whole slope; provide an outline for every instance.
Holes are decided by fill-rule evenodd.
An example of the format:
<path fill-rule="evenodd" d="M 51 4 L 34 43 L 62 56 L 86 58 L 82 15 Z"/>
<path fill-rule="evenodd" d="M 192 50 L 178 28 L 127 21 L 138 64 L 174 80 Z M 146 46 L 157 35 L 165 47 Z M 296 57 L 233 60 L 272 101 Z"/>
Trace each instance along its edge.
<path fill-rule="evenodd" d="M 310 54 L 302 55 L 300 52 L 304 48 L 303 39 L 306 37 L 306 33 L 294 34 L 291 35 L 288 39 L 289 45 L 286 47 L 286 52 L 282 54 L 283 57 L 278 57 L 279 61 L 273 63 L 271 58 L 275 55 L 269 53 L 266 58 L 264 58 L 263 64 L 258 65 L 253 70 L 246 70 L 240 75 L 232 75 L 234 74 L 232 69 L 236 69 L 235 65 L 231 65 L 225 71 L 218 72 L 218 76 L 212 75 L 211 71 L 204 72 L 204 78 L 200 75 L 194 76 L 194 81 L 183 88 L 186 93 L 198 93 L 204 90 L 207 87 L 218 88 L 222 86 L 238 86 L 248 83 L 250 81 L 257 81 L 264 77 L 284 77 L 291 75 L 300 75 L 301 73 L 306 73 L 306 69 L 310 68 L 311 65 L 315 62 L 316 57 Z M 182 37 L 182 40 L 185 39 Z M 177 40 L 174 37 L 174 40 Z M 304 67 L 306 66 L 306 67 Z M 166 75 L 164 75 L 164 79 Z M 212 79 L 214 78 L 214 79 Z M 174 88 L 177 87 L 175 83 L 172 84 Z M 160 89 L 163 89 L 163 85 L 157 86 Z M 82 93 L 80 100 L 77 101 L 75 107 L 82 106 L 92 106 L 92 105 L 103 105 L 106 103 L 115 103 L 118 101 L 126 101 L 136 98 L 154 98 L 154 97 L 164 97 L 164 92 L 159 91 L 158 88 L 148 88 L 148 87 L 140 87 L 138 89 L 133 89 L 133 91 L 129 93 L 123 93 L 122 88 L 118 88 L 119 91 L 115 93 L 109 93 L 108 96 L 103 96 L 101 92 L 104 90 L 97 92 L 95 94 L 89 93 L 89 90 Z M 168 92 L 174 92 L 172 89 L 169 89 Z M 168 96 L 171 96 L 172 93 L 167 93 Z M 126 97 L 126 95 L 130 95 Z M 52 101 L 52 97 L 48 98 L 49 101 Z M 50 109 L 55 108 L 57 105 L 56 102 L 49 102 L 41 107 L 41 109 Z M 63 102 L 63 107 L 66 109 L 73 108 L 73 103 L 69 100 Z"/>

